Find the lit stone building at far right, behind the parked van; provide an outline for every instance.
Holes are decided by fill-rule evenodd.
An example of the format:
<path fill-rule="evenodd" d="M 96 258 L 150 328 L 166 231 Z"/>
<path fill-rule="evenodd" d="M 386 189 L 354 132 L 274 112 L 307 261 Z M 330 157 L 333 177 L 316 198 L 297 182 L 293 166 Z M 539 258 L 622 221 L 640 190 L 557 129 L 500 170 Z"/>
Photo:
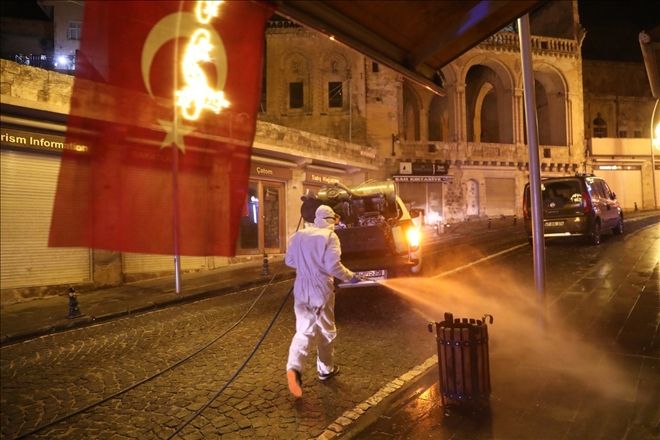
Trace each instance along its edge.
<path fill-rule="evenodd" d="M 656 99 L 644 65 L 585 60 L 583 72 L 589 168 L 607 180 L 624 209 L 657 206 L 660 164 L 653 172 L 651 145 Z"/>

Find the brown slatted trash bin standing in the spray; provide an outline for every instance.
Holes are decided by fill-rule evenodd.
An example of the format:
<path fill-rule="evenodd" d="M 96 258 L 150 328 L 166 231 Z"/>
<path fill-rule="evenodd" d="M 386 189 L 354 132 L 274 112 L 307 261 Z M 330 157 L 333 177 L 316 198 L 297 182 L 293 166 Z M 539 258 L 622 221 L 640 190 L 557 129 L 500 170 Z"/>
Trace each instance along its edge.
<path fill-rule="evenodd" d="M 488 326 L 482 319 L 454 319 L 445 313 L 442 322 L 430 322 L 429 332 L 438 344 L 438 372 L 443 406 L 470 406 L 478 408 L 488 404 L 490 398 L 490 365 L 488 360 Z"/>

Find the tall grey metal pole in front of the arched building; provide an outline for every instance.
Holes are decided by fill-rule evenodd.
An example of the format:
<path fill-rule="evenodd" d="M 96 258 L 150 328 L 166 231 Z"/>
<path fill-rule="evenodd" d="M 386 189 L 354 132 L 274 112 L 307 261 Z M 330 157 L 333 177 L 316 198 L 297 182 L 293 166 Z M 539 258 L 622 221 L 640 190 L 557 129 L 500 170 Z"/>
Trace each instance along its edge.
<path fill-rule="evenodd" d="M 545 301 L 545 241 L 543 239 L 543 201 L 541 200 L 539 141 L 536 120 L 534 71 L 532 70 L 532 51 L 530 47 L 529 15 L 523 15 L 518 19 L 518 38 L 520 39 L 520 60 L 522 63 L 525 98 L 525 120 L 527 121 L 527 142 L 529 143 L 529 189 L 532 208 L 534 284 L 539 301 L 543 304 Z"/>

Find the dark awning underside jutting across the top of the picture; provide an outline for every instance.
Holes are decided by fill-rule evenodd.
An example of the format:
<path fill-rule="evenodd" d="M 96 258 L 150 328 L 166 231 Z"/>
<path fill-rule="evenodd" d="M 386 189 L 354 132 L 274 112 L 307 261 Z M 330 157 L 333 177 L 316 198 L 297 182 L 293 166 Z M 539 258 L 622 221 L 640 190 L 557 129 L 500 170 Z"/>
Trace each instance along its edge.
<path fill-rule="evenodd" d="M 444 94 L 439 71 L 546 0 L 279 0 L 277 13 Z"/>

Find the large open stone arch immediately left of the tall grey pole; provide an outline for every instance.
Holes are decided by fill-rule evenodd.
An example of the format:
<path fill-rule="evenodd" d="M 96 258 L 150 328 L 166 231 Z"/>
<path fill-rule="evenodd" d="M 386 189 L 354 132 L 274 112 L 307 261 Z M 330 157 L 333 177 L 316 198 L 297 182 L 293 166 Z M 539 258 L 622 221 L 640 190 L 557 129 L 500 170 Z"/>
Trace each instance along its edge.
<path fill-rule="evenodd" d="M 463 72 L 468 142 L 513 143 L 513 77 L 509 70 L 497 60 L 479 56 Z"/>

